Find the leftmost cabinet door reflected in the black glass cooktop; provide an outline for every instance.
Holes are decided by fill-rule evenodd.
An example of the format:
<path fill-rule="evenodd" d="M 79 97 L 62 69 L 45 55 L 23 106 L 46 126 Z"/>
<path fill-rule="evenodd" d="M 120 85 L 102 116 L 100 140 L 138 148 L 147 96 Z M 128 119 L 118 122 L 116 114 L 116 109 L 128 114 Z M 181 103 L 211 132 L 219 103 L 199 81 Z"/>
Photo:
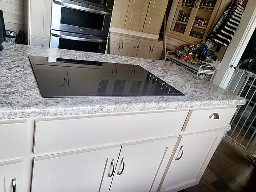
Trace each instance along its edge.
<path fill-rule="evenodd" d="M 68 67 L 33 64 L 42 96 L 64 96 Z"/>

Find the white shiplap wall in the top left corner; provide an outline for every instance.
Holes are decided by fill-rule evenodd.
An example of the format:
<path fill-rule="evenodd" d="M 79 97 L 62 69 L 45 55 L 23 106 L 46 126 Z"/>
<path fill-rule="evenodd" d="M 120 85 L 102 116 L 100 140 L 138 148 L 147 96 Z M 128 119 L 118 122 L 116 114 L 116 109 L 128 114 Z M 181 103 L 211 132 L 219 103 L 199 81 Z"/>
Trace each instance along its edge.
<path fill-rule="evenodd" d="M 24 0 L 0 0 L 5 28 L 15 32 L 24 30 Z"/>

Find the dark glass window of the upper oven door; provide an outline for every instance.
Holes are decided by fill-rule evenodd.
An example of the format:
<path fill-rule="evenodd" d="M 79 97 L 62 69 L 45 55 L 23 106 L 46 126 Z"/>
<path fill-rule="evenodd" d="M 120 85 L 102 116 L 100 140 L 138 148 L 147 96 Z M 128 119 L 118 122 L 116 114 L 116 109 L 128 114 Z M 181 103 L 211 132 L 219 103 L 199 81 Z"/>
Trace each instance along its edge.
<path fill-rule="evenodd" d="M 102 30 L 104 15 L 62 7 L 60 23 Z"/>

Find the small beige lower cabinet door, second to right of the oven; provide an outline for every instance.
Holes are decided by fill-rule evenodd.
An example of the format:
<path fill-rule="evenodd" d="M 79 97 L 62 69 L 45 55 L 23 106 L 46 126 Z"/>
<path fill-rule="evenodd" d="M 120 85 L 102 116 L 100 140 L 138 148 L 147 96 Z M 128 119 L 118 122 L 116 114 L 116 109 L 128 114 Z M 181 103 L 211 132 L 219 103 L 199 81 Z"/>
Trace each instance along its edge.
<path fill-rule="evenodd" d="M 122 39 L 121 42 L 121 48 L 119 51 L 119 55 L 121 56 L 135 56 L 136 51 L 136 45 L 137 45 L 137 39 L 136 38 L 130 38 L 130 39 Z"/>

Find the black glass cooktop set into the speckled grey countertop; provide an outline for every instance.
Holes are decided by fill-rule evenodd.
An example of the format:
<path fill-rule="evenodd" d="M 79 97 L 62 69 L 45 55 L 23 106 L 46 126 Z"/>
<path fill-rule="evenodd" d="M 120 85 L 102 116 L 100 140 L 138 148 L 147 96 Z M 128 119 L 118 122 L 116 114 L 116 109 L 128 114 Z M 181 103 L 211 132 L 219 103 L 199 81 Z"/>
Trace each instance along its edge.
<path fill-rule="evenodd" d="M 29 56 L 43 97 L 184 96 L 139 65 Z"/>

